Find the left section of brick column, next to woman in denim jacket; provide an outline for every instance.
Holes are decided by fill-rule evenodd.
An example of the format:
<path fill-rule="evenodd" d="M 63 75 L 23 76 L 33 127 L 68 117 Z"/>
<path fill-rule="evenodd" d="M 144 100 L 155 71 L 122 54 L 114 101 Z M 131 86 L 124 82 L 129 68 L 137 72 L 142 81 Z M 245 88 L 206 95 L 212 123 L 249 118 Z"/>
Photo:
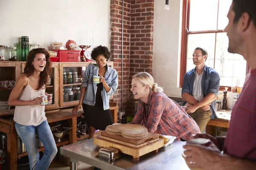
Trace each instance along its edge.
<path fill-rule="evenodd" d="M 121 79 L 123 79 L 123 110 L 128 106 L 129 99 L 129 67 L 130 67 L 130 21 L 131 0 L 124 1 L 123 21 L 123 74 L 122 71 L 122 0 L 111 0 L 110 4 L 111 28 L 111 60 L 118 72 L 118 88 L 114 94 L 114 102 L 121 108 Z M 122 77 L 121 77 L 122 75 Z"/>

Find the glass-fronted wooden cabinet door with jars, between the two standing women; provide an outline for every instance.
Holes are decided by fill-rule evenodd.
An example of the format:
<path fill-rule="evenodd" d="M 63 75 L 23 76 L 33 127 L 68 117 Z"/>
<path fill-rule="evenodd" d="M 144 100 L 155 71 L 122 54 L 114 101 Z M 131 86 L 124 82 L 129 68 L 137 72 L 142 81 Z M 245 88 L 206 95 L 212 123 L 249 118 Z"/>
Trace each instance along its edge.
<path fill-rule="evenodd" d="M 60 63 L 60 106 L 79 104 L 81 96 L 81 77 L 90 63 L 62 62 Z M 77 75 L 77 76 L 76 76 Z"/>

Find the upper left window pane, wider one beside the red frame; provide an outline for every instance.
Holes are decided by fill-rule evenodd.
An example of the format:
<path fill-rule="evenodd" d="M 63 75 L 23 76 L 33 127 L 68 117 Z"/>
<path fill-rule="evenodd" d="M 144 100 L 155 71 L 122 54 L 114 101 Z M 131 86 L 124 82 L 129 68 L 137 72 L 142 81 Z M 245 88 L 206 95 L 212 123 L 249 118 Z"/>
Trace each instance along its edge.
<path fill-rule="evenodd" d="M 190 0 L 189 31 L 216 30 L 217 16 L 218 0 Z"/>

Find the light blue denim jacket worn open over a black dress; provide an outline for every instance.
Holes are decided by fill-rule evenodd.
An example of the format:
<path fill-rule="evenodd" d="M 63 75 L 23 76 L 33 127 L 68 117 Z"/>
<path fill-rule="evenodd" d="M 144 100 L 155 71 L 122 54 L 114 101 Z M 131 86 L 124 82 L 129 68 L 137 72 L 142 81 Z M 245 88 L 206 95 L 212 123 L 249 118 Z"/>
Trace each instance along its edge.
<path fill-rule="evenodd" d="M 99 75 L 98 65 L 90 64 L 87 66 L 83 75 L 83 82 L 82 82 L 82 87 L 87 87 L 87 90 L 85 91 L 84 99 L 83 99 L 84 104 L 91 105 L 91 106 L 95 105 L 97 84 L 93 83 L 93 76 L 98 76 L 98 75 Z M 104 78 L 108 86 L 110 87 L 110 91 L 106 92 L 103 86 L 103 91 L 101 93 L 104 110 L 109 109 L 109 96 L 113 95 L 116 92 L 116 88 L 118 86 L 117 77 L 118 75 L 116 70 L 108 66 L 108 69 L 105 73 Z"/>

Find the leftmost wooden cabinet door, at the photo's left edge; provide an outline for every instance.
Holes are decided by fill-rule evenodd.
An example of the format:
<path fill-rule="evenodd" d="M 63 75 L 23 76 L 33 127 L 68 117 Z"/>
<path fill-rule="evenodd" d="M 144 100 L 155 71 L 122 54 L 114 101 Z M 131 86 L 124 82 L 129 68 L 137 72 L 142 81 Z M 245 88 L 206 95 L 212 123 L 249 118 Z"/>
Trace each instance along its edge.
<path fill-rule="evenodd" d="M 20 62 L 1 61 L 0 73 L 0 111 L 5 111 L 11 108 L 8 105 L 8 99 L 20 77 Z"/>

